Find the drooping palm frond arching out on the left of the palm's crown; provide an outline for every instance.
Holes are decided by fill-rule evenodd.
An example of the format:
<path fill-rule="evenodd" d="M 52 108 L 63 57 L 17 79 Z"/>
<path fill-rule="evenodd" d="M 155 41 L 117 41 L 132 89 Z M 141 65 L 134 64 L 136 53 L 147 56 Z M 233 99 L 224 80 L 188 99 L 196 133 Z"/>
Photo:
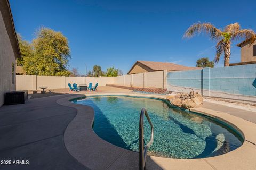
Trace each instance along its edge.
<path fill-rule="evenodd" d="M 211 23 L 194 23 L 191 25 L 185 34 L 183 35 L 183 38 L 192 38 L 196 35 L 196 33 L 200 34 L 201 32 L 205 32 L 210 35 L 211 39 L 219 40 L 222 36 L 222 31 L 216 27 L 214 27 Z"/>

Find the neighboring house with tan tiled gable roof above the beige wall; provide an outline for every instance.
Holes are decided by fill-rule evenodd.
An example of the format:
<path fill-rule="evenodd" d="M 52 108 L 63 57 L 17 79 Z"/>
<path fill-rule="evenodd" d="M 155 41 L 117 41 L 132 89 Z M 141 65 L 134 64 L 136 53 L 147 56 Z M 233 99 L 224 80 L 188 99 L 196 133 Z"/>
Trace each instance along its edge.
<path fill-rule="evenodd" d="M 127 74 L 138 74 L 144 72 L 153 72 L 153 71 L 161 71 L 168 70 L 172 71 L 185 71 L 185 70 L 198 70 L 202 68 L 197 67 L 187 67 L 184 65 L 167 63 L 167 62 L 153 62 L 153 61 L 137 61 L 133 64 L 132 68 Z"/>

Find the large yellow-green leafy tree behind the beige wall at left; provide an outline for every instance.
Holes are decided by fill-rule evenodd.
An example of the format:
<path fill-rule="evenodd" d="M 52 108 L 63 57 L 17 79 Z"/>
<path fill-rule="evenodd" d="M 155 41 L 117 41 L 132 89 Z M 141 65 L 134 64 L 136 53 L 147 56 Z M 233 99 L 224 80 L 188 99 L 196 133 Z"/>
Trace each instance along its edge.
<path fill-rule="evenodd" d="M 61 32 L 42 27 L 33 40 L 34 57 L 25 60 L 24 69 L 28 75 L 69 76 L 70 59 L 68 39 Z"/>

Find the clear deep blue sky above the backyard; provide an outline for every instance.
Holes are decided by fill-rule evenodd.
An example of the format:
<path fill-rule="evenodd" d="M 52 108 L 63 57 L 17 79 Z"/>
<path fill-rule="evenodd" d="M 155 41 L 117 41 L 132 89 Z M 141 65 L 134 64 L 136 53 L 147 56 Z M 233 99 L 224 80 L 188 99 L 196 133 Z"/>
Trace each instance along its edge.
<path fill-rule="evenodd" d="M 256 31 L 256 1 L 85 1 L 9 0 L 18 33 L 28 41 L 40 26 L 61 31 L 69 40 L 69 67 L 85 74 L 93 65 L 115 66 L 124 74 L 137 60 L 195 66 L 200 57 L 215 55 L 207 36 L 183 40 L 194 22 L 217 28 L 239 22 Z M 237 42 L 236 42 L 237 43 Z M 240 61 L 236 43 L 230 62 Z M 222 66 L 222 60 L 217 66 Z"/>

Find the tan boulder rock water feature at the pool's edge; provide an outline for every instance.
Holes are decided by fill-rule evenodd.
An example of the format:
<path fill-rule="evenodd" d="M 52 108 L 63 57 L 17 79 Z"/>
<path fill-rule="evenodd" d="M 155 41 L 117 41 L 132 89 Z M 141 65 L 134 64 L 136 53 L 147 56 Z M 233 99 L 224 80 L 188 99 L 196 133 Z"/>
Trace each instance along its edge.
<path fill-rule="evenodd" d="M 175 96 L 168 96 L 167 100 L 169 100 L 172 105 L 185 109 L 201 107 L 203 104 L 202 95 L 198 94 L 198 92 L 194 93 L 194 91 L 191 91 L 190 93 L 183 92 Z"/>

